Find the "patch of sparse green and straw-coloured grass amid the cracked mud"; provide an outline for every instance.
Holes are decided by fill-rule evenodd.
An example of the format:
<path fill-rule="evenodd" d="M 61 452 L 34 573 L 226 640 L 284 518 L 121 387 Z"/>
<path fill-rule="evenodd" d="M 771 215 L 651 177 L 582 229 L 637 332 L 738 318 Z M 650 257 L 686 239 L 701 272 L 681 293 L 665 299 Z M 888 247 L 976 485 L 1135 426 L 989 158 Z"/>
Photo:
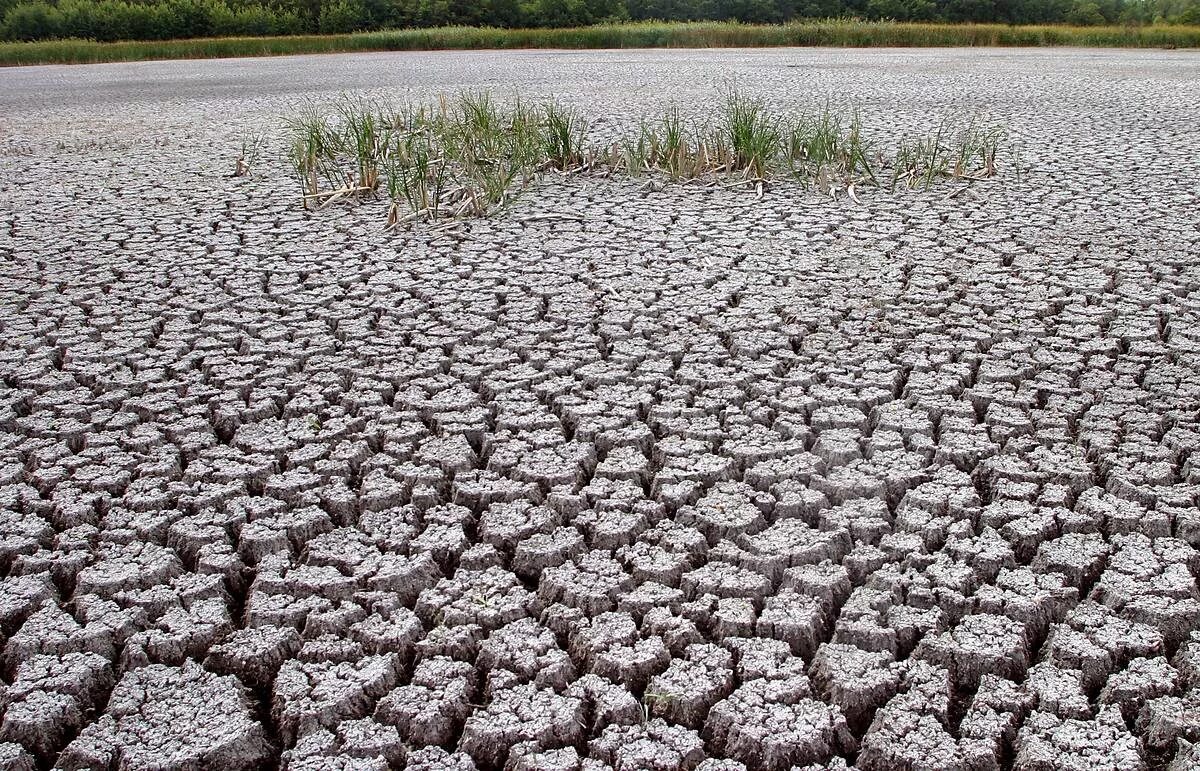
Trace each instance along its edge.
<path fill-rule="evenodd" d="M 793 116 L 732 90 L 712 119 L 692 124 L 671 107 L 602 150 L 569 107 L 520 98 L 503 106 L 482 91 L 398 110 L 343 100 L 290 125 L 305 205 L 372 197 L 383 186 L 389 227 L 488 215 L 548 172 L 654 174 L 678 184 L 716 184 L 724 174 L 734 178 L 727 186 L 751 184 L 758 196 L 768 180 L 790 175 L 858 202 L 856 186 L 882 186 L 878 169 L 890 169 L 892 190 L 992 177 L 1002 138 L 976 121 L 960 130 L 943 122 L 888 159 L 868 142 L 857 113 L 827 103 Z"/>

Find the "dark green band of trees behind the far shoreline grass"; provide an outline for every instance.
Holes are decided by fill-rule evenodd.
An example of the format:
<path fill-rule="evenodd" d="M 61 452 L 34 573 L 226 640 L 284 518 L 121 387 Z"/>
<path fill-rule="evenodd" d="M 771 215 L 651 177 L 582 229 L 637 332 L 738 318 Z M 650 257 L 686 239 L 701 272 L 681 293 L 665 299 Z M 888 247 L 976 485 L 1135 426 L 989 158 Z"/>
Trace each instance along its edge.
<path fill-rule="evenodd" d="M 0 0 L 0 40 L 173 40 L 395 28 L 830 18 L 1200 24 L 1200 0 Z"/>

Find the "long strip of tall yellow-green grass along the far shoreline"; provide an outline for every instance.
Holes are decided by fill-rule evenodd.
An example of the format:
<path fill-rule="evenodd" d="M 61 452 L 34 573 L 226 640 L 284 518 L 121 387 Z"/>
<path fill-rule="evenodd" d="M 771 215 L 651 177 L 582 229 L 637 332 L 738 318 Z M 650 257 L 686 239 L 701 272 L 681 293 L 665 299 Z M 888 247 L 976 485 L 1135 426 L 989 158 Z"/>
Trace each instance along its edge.
<path fill-rule="evenodd" d="M 1008 26 L 857 20 L 793 24 L 637 23 L 516 30 L 455 26 L 289 37 L 212 37 L 116 43 L 82 40 L 0 43 L 0 66 L 385 50 L 785 46 L 1200 48 L 1200 26 Z"/>

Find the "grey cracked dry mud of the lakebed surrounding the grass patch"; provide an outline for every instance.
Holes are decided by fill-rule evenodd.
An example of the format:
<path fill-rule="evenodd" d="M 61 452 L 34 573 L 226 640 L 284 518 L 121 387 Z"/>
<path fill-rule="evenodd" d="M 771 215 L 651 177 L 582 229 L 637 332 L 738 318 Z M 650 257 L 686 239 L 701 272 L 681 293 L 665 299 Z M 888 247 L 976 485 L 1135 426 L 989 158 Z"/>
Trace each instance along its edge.
<path fill-rule="evenodd" d="M 308 96 L 731 79 L 1032 168 L 388 235 L 281 160 Z M 1172 52 L 0 72 L 0 765 L 1200 767 L 1198 102 Z"/>

